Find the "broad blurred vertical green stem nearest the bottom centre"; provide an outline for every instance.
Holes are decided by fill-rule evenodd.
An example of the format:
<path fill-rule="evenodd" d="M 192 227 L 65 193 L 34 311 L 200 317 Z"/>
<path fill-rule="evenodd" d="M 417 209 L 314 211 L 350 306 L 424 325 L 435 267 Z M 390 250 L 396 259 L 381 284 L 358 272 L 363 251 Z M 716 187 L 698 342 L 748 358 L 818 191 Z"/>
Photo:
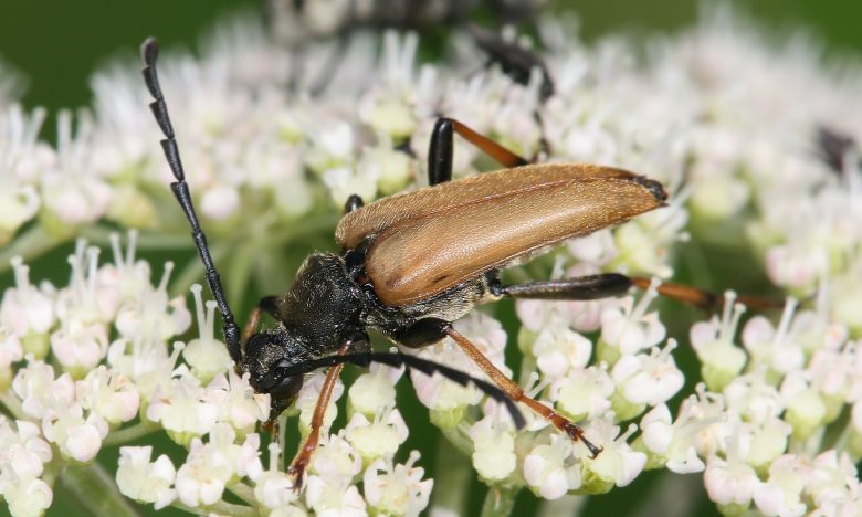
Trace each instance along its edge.
<path fill-rule="evenodd" d="M 432 514 L 464 515 L 473 477 L 467 458 L 445 436 L 440 436 L 431 493 Z"/>

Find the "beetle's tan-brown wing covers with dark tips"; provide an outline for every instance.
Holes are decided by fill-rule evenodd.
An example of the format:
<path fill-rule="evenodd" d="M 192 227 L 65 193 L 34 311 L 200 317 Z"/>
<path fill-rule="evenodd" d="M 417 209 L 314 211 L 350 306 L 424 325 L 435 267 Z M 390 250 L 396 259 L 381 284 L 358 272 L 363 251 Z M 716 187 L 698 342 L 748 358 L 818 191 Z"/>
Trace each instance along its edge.
<path fill-rule="evenodd" d="M 370 239 L 366 273 L 382 303 L 403 306 L 664 199 L 661 184 L 624 170 L 529 165 L 383 198 L 345 215 L 336 240 Z"/>

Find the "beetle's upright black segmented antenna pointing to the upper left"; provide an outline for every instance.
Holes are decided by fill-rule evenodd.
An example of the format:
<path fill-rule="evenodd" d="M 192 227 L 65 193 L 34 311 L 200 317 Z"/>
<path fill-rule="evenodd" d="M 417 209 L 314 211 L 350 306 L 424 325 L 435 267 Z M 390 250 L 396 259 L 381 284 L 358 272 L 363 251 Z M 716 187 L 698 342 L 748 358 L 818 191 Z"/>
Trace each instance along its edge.
<path fill-rule="evenodd" d="M 207 283 L 210 286 L 212 296 L 216 298 L 216 303 L 219 306 L 221 313 L 221 319 L 223 323 L 222 331 L 224 333 L 224 342 L 228 345 L 228 352 L 231 355 L 231 359 L 239 367 L 242 359 L 242 352 L 240 350 L 240 328 L 233 320 L 233 313 L 231 313 L 228 302 L 224 298 L 224 289 L 221 287 L 221 278 L 219 272 L 216 270 L 216 265 L 212 263 L 212 256 L 210 256 L 210 249 L 207 245 L 207 235 L 203 234 L 203 230 L 200 228 L 198 217 L 195 214 L 195 205 L 191 203 L 191 194 L 189 193 L 189 184 L 186 182 L 186 173 L 182 171 L 182 162 L 180 162 L 179 149 L 177 148 L 177 140 L 174 136 L 174 127 L 170 125 L 170 117 L 168 116 L 168 105 L 165 104 L 165 97 L 161 95 L 161 86 L 159 86 L 159 78 L 156 73 L 156 59 L 159 55 L 159 42 L 155 38 L 147 38 L 144 44 L 140 45 L 140 55 L 144 59 L 146 65 L 141 71 L 144 74 L 144 83 L 147 85 L 153 101 L 149 104 L 149 108 L 153 110 L 153 116 L 156 117 L 156 122 L 161 128 L 161 133 L 165 135 L 165 139 L 161 140 L 161 148 L 165 151 L 165 158 L 168 160 L 170 170 L 174 172 L 174 177 L 177 181 L 170 183 L 170 189 L 174 191 L 174 196 L 182 207 L 182 211 L 186 213 L 191 225 L 191 238 L 195 240 L 195 246 L 198 249 L 201 262 L 203 262 L 203 270 L 207 275 Z"/>

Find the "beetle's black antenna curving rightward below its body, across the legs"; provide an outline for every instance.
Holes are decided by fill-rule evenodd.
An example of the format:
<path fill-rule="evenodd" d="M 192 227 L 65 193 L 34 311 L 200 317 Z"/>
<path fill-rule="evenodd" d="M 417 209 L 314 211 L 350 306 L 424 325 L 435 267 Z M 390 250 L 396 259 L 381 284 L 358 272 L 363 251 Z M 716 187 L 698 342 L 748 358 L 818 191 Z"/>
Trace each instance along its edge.
<path fill-rule="evenodd" d="M 491 382 L 475 378 L 470 373 L 465 373 L 461 370 L 455 370 L 454 368 L 448 367 L 445 365 L 430 361 L 417 356 L 409 356 L 407 354 L 362 352 L 346 354 L 344 356 L 327 356 L 312 359 L 309 361 L 303 361 L 298 365 L 286 368 L 283 373 L 287 377 L 299 376 L 317 370 L 318 368 L 340 365 L 343 362 L 350 362 L 361 367 L 368 367 L 371 362 L 381 362 L 395 368 L 403 365 L 408 369 L 412 368 L 414 370 L 419 370 L 427 376 L 430 376 L 437 371 L 446 379 L 453 382 L 458 382 L 461 386 L 467 386 L 472 383 L 495 401 L 503 403 L 506 407 L 508 413 L 512 415 L 512 421 L 514 422 L 515 428 L 522 429 L 527 424 L 526 420 L 524 420 L 524 415 L 521 414 L 521 410 L 518 410 L 517 404 L 515 404 L 515 402 L 509 399 L 503 390 L 492 384 Z"/>

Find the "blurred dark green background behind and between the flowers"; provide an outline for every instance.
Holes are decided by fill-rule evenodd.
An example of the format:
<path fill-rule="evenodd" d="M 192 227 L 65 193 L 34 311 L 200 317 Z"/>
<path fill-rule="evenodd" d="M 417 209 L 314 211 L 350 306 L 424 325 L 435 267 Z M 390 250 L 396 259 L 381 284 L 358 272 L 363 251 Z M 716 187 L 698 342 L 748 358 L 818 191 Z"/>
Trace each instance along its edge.
<path fill-rule="evenodd" d="M 805 28 L 820 39 L 831 55 L 862 52 L 862 3 L 853 1 L 805 1 L 805 0 L 756 0 L 734 2 L 742 12 L 751 13 L 765 28 L 778 33 L 793 28 Z M 701 2 L 684 0 L 611 0 L 611 1 L 570 1 L 567 9 L 575 10 L 581 19 L 581 34 L 593 40 L 609 32 L 629 31 L 643 35 L 679 31 L 697 19 Z M 43 128 L 46 139 L 53 139 L 55 112 L 59 108 L 84 106 L 90 103 L 88 77 L 107 60 L 129 57 L 137 53 L 138 44 L 147 35 L 157 35 L 162 46 L 191 46 L 212 27 L 213 21 L 238 9 L 256 9 L 257 1 L 170 1 L 149 0 L 146 2 L 77 0 L 0 0 L 0 59 L 27 80 L 23 103 L 32 108 L 45 106 L 53 114 Z M 487 15 L 487 13 L 485 13 Z M 800 103 L 805 99 L 800 99 Z M 144 108 L 144 107 L 141 107 Z M 66 273 L 65 254 L 61 250 L 33 267 L 32 278 L 52 277 L 62 279 Z M 304 253 L 304 252 L 303 252 Z M 182 253 L 192 258 L 190 251 Z M 160 263 L 167 256 L 150 255 Z M 177 260 L 177 256 L 171 256 Z M 54 264 L 61 264 L 54 270 Z M 10 284 L 10 274 L 0 276 L 0 286 Z M 277 289 L 276 289 L 277 291 Z M 249 304 L 250 306 L 250 304 Z M 240 316 L 248 309 L 239 310 Z M 511 305 L 498 308 L 498 315 L 512 313 Z M 512 318 L 508 318 L 509 320 Z M 509 328 L 509 340 L 516 331 Z M 512 346 L 511 348 L 515 348 Z M 686 358 L 685 350 L 679 352 L 681 362 Z M 687 354 L 691 356 L 691 352 Z M 512 363 L 512 362 L 509 362 Z M 346 379 L 349 383 L 349 378 Z M 409 389 L 402 389 L 399 404 L 411 426 L 409 442 L 403 451 L 419 449 L 423 452 L 422 464 L 434 475 L 434 450 L 437 433 L 424 431 L 428 413 L 416 401 Z M 181 457 L 178 447 L 171 447 L 167 441 L 159 443 L 161 451 L 172 452 L 175 463 Z M 99 456 L 106 464 L 116 464 L 116 450 L 106 450 Z M 685 487 L 701 497 L 701 513 L 715 513 L 712 504 L 702 494 L 700 476 L 690 476 L 693 483 Z M 586 508 L 587 515 L 654 515 L 655 511 L 671 510 L 669 506 L 644 506 L 655 484 L 662 481 L 655 475 L 643 475 L 630 487 L 616 489 L 606 497 L 595 497 Z M 477 513 L 477 505 L 484 497 L 484 489 L 475 485 L 471 495 L 471 514 Z M 652 502 L 656 504 L 656 502 Z M 663 504 L 658 502 L 659 505 Z M 4 509 L 0 509 L 3 511 Z M 143 513 L 150 507 L 140 507 Z M 535 499 L 526 492 L 518 498 L 513 515 L 524 515 L 535 510 Z M 55 490 L 54 506 L 50 515 L 87 515 L 72 497 L 62 489 Z"/>

